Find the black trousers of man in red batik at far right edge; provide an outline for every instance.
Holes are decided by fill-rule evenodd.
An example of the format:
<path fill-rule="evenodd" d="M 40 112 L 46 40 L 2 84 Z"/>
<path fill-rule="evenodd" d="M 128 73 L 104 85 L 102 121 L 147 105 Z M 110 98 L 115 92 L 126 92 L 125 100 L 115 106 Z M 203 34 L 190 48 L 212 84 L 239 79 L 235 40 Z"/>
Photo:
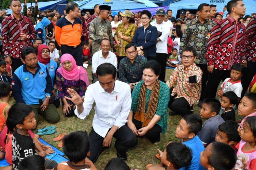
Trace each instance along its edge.
<path fill-rule="evenodd" d="M 244 68 L 243 75 L 241 78 L 241 84 L 243 86 L 241 99 L 243 98 L 255 74 L 256 74 L 256 62 L 247 62 L 247 67 Z"/>

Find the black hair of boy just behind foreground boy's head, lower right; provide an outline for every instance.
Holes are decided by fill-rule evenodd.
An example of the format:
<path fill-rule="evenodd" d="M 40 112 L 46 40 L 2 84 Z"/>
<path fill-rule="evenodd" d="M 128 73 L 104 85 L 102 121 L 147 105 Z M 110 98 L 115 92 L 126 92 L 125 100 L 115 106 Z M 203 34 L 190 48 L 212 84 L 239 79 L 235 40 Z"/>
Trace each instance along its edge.
<path fill-rule="evenodd" d="M 229 141 L 239 142 L 241 140 L 240 135 L 237 132 L 238 124 L 233 120 L 223 122 L 218 126 L 218 131 L 223 132 L 228 137 Z"/>

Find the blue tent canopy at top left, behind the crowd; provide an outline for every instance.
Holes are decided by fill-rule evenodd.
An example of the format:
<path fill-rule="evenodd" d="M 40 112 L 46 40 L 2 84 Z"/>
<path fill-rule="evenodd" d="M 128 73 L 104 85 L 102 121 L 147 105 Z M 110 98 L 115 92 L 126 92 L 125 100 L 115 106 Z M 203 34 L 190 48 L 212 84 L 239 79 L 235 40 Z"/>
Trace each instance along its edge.
<path fill-rule="evenodd" d="M 57 1 L 48 1 L 48 2 L 38 2 L 38 7 L 40 11 L 44 11 L 47 9 L 50 9 L 50 10 L 56 9 L 58 12 L 60 12 L 60 14 L 63 14 L 63 11 L 65 10 L 65 7 L 67 4 L 68 4 L 68 0 L 57 0 Z M 21 13 L 23 13 L 24 3 L 22 3 L 21 5 L 22 5 Z M 31 3 L 27 3 L 27 7 L 29 7 L 30 5 Z M 32 3 L 32 5 L 35 6 L 35 3 Z M 6 11 L 8 11 L 7 14 L 12 13 L 12 10 L 10 9 Z"/>

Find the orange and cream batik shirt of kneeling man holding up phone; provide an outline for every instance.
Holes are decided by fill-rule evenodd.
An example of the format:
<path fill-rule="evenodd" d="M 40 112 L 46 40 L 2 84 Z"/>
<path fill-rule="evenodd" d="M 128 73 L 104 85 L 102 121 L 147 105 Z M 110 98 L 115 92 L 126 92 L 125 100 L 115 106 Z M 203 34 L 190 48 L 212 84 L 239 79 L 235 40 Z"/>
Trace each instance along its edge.
<path fill-rule="evenodd" d="M 197 83 L 189 84 L 188 77 L 197 75 Z M 170 80 L 166 82 L 169 88 L 173 87 L 172 96 L 177 95 L 177 98 L 184 97 L 190 106 L 194 106 L 198 103 L 201 96 L 201 79 L 202 70 L 197 67 L 196 64 L 184 68 L 183 65 L 177 66 L 170 77 Z"/>

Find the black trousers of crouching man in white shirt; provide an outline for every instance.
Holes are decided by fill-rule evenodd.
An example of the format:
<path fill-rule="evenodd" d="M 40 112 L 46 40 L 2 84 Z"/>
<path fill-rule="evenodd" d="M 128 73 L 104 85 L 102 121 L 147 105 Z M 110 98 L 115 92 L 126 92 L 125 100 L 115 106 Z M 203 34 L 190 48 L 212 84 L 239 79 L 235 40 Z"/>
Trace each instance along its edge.
<path fill-rule="evenodd" d="M 110 131 L 110 129 L 109 129 Z M 137 145 L 138 139 L 132 133 L 130 128 L 127 125 L 123 125 L 120 127 L 115 134 L 113 135 L 116 138 L 115 148 L 118 153 L 121 155 L 126 153 L 126 151 L 130 148 L 133 148 Z M 88 157 L 93 163 L 96 162 L 101 152 L 108 147 L 103 147 L 102 143 L 104 138 L 97 134 L 93 127 L 91 127 L 91 132 L 89 134 L 90 139 L 90 156 Z"/>

